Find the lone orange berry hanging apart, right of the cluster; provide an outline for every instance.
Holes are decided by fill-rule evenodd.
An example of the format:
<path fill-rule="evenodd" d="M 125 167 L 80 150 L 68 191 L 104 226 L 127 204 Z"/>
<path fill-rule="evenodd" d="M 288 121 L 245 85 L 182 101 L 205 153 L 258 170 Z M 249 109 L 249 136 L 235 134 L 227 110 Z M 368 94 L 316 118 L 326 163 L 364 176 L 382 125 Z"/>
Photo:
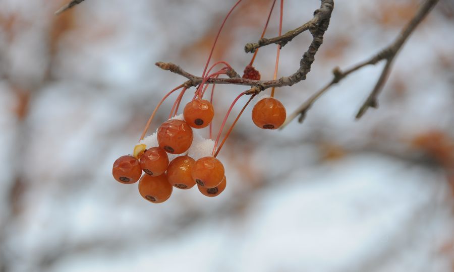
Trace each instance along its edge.
<path fill-rule="evenodd" d="M 285 122 L 286 115 L 286 108 L 272 97 L 258 101 L 252 109 L 252 121 L 264 129 L 279 128 Z"/>

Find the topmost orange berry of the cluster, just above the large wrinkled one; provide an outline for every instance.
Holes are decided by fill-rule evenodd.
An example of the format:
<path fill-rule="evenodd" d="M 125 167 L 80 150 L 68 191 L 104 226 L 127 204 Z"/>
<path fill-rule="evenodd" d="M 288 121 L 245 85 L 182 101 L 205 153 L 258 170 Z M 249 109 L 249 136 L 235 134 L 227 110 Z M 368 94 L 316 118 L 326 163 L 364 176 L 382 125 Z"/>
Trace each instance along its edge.
<path fill-rule="evenodd" d="M 213 119 L 214 108 L 208 100 L 194 99 L 186 104 L 183 116 L 185 117 L 185 121 L 188 122 L 191 127 L 206 127 Z"/>

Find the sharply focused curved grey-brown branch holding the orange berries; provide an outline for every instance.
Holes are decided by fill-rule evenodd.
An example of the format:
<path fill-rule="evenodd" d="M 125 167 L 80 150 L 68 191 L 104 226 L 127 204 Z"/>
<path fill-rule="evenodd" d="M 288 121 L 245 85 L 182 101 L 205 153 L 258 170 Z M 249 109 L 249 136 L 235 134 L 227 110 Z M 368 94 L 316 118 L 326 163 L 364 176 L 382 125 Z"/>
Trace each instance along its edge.
<path fill-rule="evenodd" d="M 323 43 L 323 35 L 325 31 L 328 29 L 329 19 L 331 18 L 331 13 L 334 8 L 334 0 L 321 0 L 320 9 L 314 12 L 314 18 L 311 19 L 306 24 L 309 24 L 310 27 L 308 29 L 312 33 L 312 42 L 309 45 L 308 50 L 304 53 L 303 58 L 300 60 L 300 68 L 291 76 L 289 77 L 282 77 L 277 80 L 250 80 L 250 79 L 243 79 L 240 77 L 234 78 L 210 78 L 206 81 L 208 84 L 235 84 L 235 85 L 246 85 L 252 86 L 247 92 L 247 94 L 257 94 L 265 89 L 271 87 L 282 87 L 282 86 L 292 86 L 295 83 L 298 83 L 302 80 L 306 79 L 306 75 L 311 71 L 311 64 L 314 62 L 315 54 L 318 51 L 318 48 Z M 305 25 L 306 25 L 305 24 Z M 301 27 L 304 28 L 304 25 Z M 303 30 L 304 31 L 304 30 Z M 300 31 L 299 33 L 301 33 Z M 275 39 L 280 39 L 280 42 L 288 42 L 293 37 L 298 34 L 298 31 L 294 32 L 293 34 L 284 34 L 280 37 Z M 287 35 L 287 36 L 286 36 Z M 293 35 L 293 36 L 292 36 Z M 270 43 L 268 43 L 270 44 Z M 266 44 L 262 44 L 264 46 Z M 255 49 L 254 49 L 255 50 Z M 202 82 L 201 77 L 194 76 L 183 69 L 180 66 L 174 63 L 167 63 L 167 62 L 156 62 L 156 65 L 163 70 L 168 70 L 178 75 L 181 75 L 187 79 L 189 79 L 192 84 L 195 86 Z"/>

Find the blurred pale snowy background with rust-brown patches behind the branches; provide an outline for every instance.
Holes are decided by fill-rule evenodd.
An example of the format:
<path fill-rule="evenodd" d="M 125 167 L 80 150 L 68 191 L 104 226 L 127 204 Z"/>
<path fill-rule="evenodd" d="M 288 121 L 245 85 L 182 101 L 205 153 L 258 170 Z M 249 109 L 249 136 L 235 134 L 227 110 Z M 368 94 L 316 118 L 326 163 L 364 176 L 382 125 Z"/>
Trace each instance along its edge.
<path fill-rule="evenodd" d="M 213 61 L 243 71 L 252 56 L 243 47 L 260 37 L 271 2 L 243 1 Z M 159 205 L 137 183 L 116 182 L 112 163 L 185 81 L 154 62 L 201 75 L 234 1 L 86 0 L 54 16 L 65 3 L 0 0 L 1 272 L 454 271 L 454 1 L 441 0 L 410 37 L 378 109 L 354 119 L 383 63 L 282 131 L 257 128 L 251 105 L 218 157 L 225 191 L 174 189 Z M 319 3 L 287 0 L 283 32 Z M 336 1 L 307 80 L 276 97 L 292 112 L 333 67 L 389 44 L 420 3 Z M 266 37 L 277 34 L 277 8 Z M 303 33 L 283 47 L 279 76 L 298 69 L 310 41 Z M 262 79 L 272 78 L 275 50 L 259 50 Z M 214 131 L 244 90 L 216 87 Z"/>

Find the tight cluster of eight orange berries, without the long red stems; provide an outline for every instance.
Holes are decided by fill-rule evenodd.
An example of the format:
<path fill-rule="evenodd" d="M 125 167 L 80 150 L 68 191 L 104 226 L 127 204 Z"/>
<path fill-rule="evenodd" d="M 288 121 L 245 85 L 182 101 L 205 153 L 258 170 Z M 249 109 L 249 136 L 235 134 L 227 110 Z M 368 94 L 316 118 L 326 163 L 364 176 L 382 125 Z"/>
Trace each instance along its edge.
<path fill-rule="evenodd" d="M 152 135 L 156 136 L 158 146 L 146 149 L 145 144 L 139 144 L 133 156 L 118 158 L 113 163 L 113 177 L 124 184 L 139 181 L 139 193 L 153 203 L 167 200 L 173 187 L 190 189 L 195 184 L 206 196 L 220 194 L 226 185 L 222 163 L 213 156 L 198 160 L 188 156 L 193 128 L 211 123 L 213 106 L 207 100 L 194 99 L 186 105 L 183 116 L 184 120 L 173 118 L 159 126 Z M 175 158 L 169 160 L 173 154 Z"/>

